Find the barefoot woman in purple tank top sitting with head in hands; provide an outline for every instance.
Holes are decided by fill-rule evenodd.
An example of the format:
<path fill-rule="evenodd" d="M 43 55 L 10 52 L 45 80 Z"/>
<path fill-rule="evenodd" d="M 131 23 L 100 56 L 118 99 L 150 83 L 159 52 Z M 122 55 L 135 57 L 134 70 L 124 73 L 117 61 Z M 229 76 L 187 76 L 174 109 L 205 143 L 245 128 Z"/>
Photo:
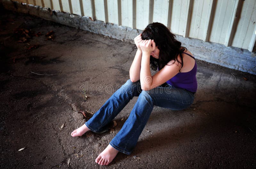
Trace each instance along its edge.
<path fill-rule="evenodd" d="M 187 48 L 181 47 L 175 35 L 156 22 L 149 24 L 134 41 L 138 49 L 130 68 L 130 79 L 90 120 L 71 133 L 75 137 L 89 130 L 95 133 L 108 131 L 108 123 L 134 96 L 139 96 L 122 129 L 95 159 L 100 165 L 108 165 L 119 151 L 131 154 L 154 105 L 181 110 L 194 101 L 196 61 Z M 150 65 L 153 70 L 159 70 L 154 76 L 151 76 Z"/>

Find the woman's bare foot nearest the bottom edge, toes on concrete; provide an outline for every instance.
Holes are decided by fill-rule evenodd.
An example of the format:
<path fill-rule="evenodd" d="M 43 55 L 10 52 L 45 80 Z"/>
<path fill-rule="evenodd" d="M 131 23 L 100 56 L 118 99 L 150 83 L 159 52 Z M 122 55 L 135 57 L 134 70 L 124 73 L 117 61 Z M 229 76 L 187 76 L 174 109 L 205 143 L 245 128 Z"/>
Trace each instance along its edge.
<path fill-rule="evenodd" d="M 108 165 L 116 157 L 117 153 L 118 151 L 108 144 L 108 147 L 100 153 L 95 162 L 100 165 Z"/>

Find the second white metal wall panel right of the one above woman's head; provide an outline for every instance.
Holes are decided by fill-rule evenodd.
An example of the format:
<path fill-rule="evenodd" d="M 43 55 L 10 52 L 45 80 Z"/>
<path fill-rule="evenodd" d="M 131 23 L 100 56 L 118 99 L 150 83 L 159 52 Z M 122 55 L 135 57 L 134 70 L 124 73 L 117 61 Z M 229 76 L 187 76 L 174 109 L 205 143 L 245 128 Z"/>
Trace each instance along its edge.
<path fill-rule="evenodd" d="M 195 0 L 191 16 L 189 37 L 204 39 L 204 32 L 207 24 L 211 0 Z"/>

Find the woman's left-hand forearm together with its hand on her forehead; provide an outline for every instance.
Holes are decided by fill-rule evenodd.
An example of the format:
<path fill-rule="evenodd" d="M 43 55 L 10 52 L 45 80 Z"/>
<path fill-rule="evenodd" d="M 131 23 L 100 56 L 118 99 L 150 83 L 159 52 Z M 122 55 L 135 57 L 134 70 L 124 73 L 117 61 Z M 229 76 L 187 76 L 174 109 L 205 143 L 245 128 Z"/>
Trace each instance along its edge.
<path fill-rule="evenodd" d="M 140 42 L 142 41 L 141 39 L 141 33 L 134 38 L 134 42 L 137 46 L 137 52 L 136 55 L 133 59 L 129 74 L 130 74 L 130 79 L 132 82 L 136 82 L 140 80 L 140 63 L 141 63 L 141 56 L 142 56 L 142 51 L 140 49 Z"/>

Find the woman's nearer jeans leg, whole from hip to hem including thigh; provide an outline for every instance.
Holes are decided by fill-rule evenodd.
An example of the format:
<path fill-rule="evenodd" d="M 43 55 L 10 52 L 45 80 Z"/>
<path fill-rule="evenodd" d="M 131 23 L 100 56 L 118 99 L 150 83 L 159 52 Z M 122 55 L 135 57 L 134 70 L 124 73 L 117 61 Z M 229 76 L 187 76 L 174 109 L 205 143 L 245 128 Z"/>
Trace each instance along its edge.
<path fill-rule="evenodd" d="M 194 95 L 191 92 L 172 86 L 156 87 L 149 91 L 142 91 L 129 118 L 109 144 L 120 152 L 131 154 L 154 105 L 172 110 L 181 110 L 189 107 L 193 100 Z"/>

